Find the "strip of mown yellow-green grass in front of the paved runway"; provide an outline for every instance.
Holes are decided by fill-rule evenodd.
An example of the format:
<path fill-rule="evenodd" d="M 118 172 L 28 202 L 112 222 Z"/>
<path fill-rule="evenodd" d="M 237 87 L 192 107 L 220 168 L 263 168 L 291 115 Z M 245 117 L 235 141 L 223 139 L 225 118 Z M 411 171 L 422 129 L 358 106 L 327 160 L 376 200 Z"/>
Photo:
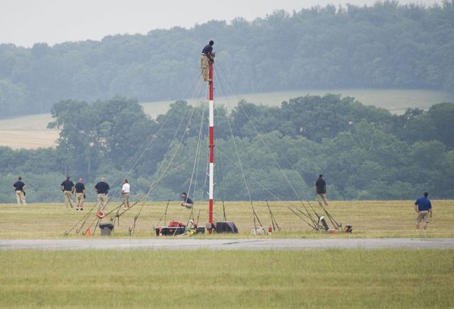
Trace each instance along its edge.
<path fill-rule="evenodd" d="M 453 250 L 0 251 L 0 307 L 448 308 Z"/>

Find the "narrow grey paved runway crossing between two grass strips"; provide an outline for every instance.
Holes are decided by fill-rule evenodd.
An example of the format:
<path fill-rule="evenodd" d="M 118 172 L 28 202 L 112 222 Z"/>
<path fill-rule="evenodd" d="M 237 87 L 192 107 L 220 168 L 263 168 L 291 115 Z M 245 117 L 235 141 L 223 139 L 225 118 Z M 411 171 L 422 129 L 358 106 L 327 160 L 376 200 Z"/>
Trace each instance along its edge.
<path fill-rule="evenodd" d="M 170 249 L 170 250 L 304 250 L 304 249 L 454 249 L 454 238 L 348 239 L 83 239 L 0 240 L 0 250 Z"/>

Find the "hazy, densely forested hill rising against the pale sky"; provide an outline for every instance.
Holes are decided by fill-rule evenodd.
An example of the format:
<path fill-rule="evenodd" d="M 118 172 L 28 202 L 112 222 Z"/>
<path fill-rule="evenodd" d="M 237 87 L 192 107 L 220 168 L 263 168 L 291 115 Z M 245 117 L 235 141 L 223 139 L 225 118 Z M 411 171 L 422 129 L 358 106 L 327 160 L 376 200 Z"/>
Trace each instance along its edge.
<path fill-rule="evenodd" d="M 100 42 L 0 45 L 1 116 L 48 112 L 68 98 L 179 99 L 199 74 L 199 54 L 210 39 L 216 69 L 237 93 L 454 89 L 454 1 L 427 8 L 385 1 L 276 11 L 252 22 L 210 21 Z"/>

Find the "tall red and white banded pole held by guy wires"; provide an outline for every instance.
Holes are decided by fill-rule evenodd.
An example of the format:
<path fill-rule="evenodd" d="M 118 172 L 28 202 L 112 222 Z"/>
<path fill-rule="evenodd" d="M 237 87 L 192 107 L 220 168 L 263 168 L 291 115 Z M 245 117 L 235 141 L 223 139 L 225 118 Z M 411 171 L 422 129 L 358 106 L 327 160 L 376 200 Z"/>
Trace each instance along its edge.
<path fill-rule="evenodd" d="M 213 64 L 214 60 L 209 61 L 209 147 L 210 147 L 210 163 L 209 163 L 209 223 L 213 223 L 213 189 L 214 189 L 214 86 L 213 86 Z"/>

